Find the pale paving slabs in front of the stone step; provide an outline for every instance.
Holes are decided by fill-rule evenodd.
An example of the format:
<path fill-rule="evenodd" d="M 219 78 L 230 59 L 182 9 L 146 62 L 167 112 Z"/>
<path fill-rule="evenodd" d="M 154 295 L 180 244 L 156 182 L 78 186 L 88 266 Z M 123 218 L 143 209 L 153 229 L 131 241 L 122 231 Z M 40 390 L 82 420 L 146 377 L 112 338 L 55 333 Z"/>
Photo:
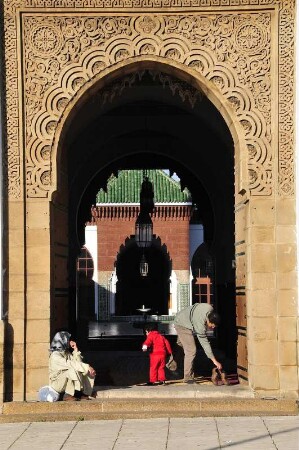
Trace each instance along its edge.
<path fill-rule="evenodd" d="M 0 424 L 1 450 L 298 450 L 299 416 Z"/>

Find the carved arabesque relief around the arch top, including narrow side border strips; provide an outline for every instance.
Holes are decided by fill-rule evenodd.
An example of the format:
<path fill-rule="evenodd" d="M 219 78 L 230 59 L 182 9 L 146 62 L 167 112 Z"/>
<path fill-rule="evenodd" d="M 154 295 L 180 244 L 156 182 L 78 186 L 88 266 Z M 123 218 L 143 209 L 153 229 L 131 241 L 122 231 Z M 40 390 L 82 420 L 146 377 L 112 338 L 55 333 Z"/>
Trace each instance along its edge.
<path fill-rule="evenodd" d="M 208 4 L 227 1 L 190 2 L 200 12 L 184 14 L 118 14 L 99 11 L 76 15 L 84 8 L 141 8 L 176 6 L 177 2 L 100 0 L 13 0 L 6 2 L 6 61 L 10 86 L 17 91 L 17 7 L 30 7 L 22 15 L 25 89 L 26 188 L 29 197 L 47 197 L 51 189 L 52 144 L 64 109 L 86 83 L 99 78 L 103 69 L 138 55 L 153 55 L 165 62 L 175 60 L 200 73 L 226 98 L 242 126 L 247 145 L 250 189 L 253 195 L 273 193 L 273 147 L 271 108 L 271 30 L 273 13 L 240 10 L 207 11 Z M 256 1 L 242 1 L 242 5 Z M 238 2 L 234 1 L 234 6 Z M 293 40 L 292 1 L 260 1 L 279 5 L 279 193 L 294 194 L 293 157 Z M 32 8 L 39 8 L 33 12 Z M 43 7 L 73 8 L 74 14 L 48 15 Z M 184 2 L 184 8 L 187 8 Z M 273 9 L 274 11 L 274 9 Z M 70 10 L 68 10 L 70 12 Z M 114 11 L 115 13 L 115 11 Z M 12 39 L 9 41 L 8 38 Z M 9 58 L 9 55 L 11 58 Z M 12 57 L 14 55 L 14 57 Z M 10 195 L 20 195 L 21 170 L 18 136 L 18 94 L 8 92 L 8 144 Z"/>

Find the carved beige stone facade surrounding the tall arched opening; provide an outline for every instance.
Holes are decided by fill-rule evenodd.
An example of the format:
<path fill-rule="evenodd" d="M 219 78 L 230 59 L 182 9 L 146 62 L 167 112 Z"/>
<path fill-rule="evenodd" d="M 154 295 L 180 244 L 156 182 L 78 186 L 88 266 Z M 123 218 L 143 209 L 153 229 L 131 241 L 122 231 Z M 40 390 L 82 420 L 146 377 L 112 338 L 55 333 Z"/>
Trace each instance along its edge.
<path fill-rule="evenodd" d="M 36 398 L 51 332 L 67 326 L 72 117 L 144 68 L 204 93 L 228 126 L 240 374 L 257 395 L 298 396 L 294 11 L 291 0 L 4 0 L 5 400 Z"/>

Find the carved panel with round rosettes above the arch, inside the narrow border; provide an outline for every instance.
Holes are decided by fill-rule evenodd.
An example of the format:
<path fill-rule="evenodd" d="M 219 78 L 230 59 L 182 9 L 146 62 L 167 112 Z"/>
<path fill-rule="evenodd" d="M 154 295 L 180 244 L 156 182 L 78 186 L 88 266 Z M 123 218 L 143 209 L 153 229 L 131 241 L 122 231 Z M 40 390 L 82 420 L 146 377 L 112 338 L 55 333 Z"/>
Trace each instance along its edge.
<path fill-rule="evenodd" d="M 27 193 L 47 196 L 63 109 L 101 70 L 138 55 L 199 71 L 232 103 L 250 146 L 251 190 L 271 193 L 270 14 L 23 19 Z M 46 174 L 46 175 L 45 175 Z"/>

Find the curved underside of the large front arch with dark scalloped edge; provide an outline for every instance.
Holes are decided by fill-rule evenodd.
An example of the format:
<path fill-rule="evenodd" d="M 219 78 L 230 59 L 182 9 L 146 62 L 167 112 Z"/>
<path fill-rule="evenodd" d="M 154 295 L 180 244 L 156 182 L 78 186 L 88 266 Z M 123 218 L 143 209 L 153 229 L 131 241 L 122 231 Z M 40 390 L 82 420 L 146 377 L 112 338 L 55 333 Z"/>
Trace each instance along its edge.
<path fill-rule="evenodd" d="M 185 102 L 186 98 L 189 98 L 190 101 L 189 90 L 197 92 L 197 96 L 201 98 L 200 105 L 202 107 L 196 108 L 196 114 L 200 116 L 203 122 L 206 121 L 209 128 L 222 140 L 225 141 L 229 136 L 229 140 L 233 142 L 236 164 L 244 164 L 243 149 L 246 145 L 243 142 L 243 131 L 234 117 L 233 109 L 228 109 L 228 103 L 218 88 L 196 70 L 186 67 L 177 61 L 169 62 L 161 57 L 155 57 L 155 60 L 152 60 L 151 57 L 143 55 L 129 58 L 125 64 L 118 63 L 113 67 L 106 68 L 94 77 L 91 85 L 86 83 L 80 92 L 68 103 L 57 125 L 52 146 L 52 159 L 53 161 L 56 160 L 60 168 L 65 168 L 67 165 L 65 149 L 72 142 L 76 141 L 79 135 L 84 133 L 84 129 L 86 130 L 89 124 L 96 120 L 96 117 L 101 116 L 103 112 L 109 111 L 109 109 L 114 109 L 116 104 L 126 104 L 128 95 L 132 99 L 138 95 L 138 90 L 135 89 L 135 92 L 133 92 L 131 89 L 129 79 L 132 76 L 140 77 L 140 74 L 143 72 L 162 73 L 175 81 L 179 81 L 180 84 L 184 84 L 185 87 L 188 86 L 185 90 L 187 94 L 186 92 L 185 95 L 182 92 L 179 93 L 181 99 L 184 97 L 184 101 L 180 102 L 182 108 L 187 105 L 187 102 Z M 115 87 L 117 83 L 119 84 L 118 89 Z M 111 92 L 110 99 L 113 98 L 113 102 L 107 101 L 107 98 L 109 99 L 109 94 L 107 94 L 109 88 Z M 172 91 L 175 90 L 172 87 Z M 119 98 L 117 98 L 117 91 L 122 94 Z M 152 100 L 155 97 L 155 92 L 156 98 L 160 100 L 161 89 L 160 92 L 159 90 L 151 89 L 150 99 Z M 103 98 L 101 98 L 103 93 L 106 95 L 105 101 L 102 101 Z M 142 98 L 145 97 L 143 92 Z M 177 98 L 178 95 L 176 98 L 173 98 L 174 103 L 176 103 Z M 170 101 L 171 96 L 168 96 L 167 102 Z M 184 102 L 185 105 L 183 105 Z M 99 108 L 99 103 L 101 103 L 101 108 Z M 105 106 L 104 108 L 103 105 Z M 213 121 L 209 121 L 211 115 L 213 116 Z M 117 154 L 113 156 L 118 157 Z M 238 167 L 237 171 L 239 172 L 239 170 Z M 60 190 L 59 183 L 62 186 L 64 184 L 62 180 L 63 172 L 64 170 L 57 170 L 57 172 L 54 171 L 53 173 L 53 193 L 56 189 Z M 242 177 L 243 182 L 240 190 L 247 184 L 246 173 L 242 173 Z M 238 182 L 238 180 L 236 181 Z"/>

